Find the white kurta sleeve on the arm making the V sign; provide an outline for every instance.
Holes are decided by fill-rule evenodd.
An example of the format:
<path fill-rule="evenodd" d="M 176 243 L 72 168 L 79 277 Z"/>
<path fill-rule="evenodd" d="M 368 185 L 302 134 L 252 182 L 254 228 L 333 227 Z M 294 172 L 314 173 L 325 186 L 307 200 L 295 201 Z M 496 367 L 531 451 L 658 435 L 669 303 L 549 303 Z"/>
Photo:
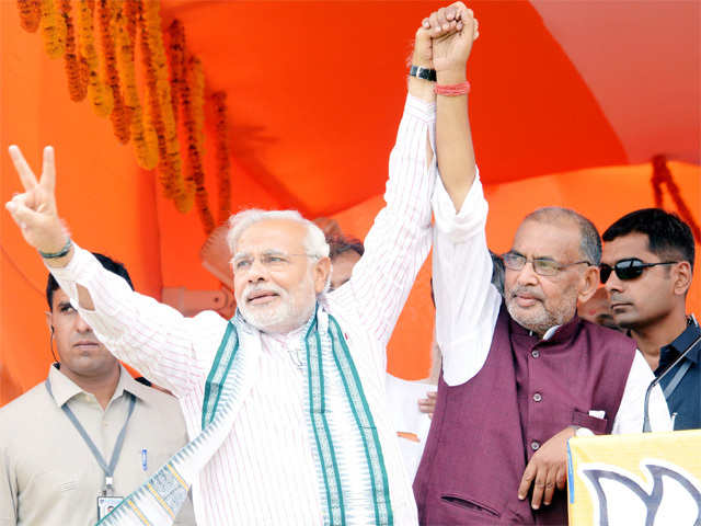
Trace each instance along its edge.
<path fill-rule="evenodd" d="M 208 311 L 185 318 L 131 290 L 125 279 L 78 245 L 68 265 L 48 270 L 97 339 L 117 358 L 176 396 L 204 381 L 226 330 L 227 322 L 219 315 Z M 80 307 L 78 285 L 90 293 L 94 310 Z"/>

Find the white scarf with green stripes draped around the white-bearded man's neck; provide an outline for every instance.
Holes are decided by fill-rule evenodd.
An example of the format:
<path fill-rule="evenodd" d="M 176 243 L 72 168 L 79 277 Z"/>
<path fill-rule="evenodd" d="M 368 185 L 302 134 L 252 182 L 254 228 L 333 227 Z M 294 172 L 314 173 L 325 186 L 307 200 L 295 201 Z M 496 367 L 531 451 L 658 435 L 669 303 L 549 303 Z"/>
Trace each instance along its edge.
<path fill-rule="evenodd" d="M 173 523 L 187 499 L 192 481 L 226 439 L 254 381 L 255 375 L 246 371 L 257 357 L 246 353 L 245 345 L 239 345 L 244 324 L 237 312 L 227 325 L 205 385 L 202 432 L 99 525 L 165 526 Z M 338 322 L 318 306 L 303 333 L 307 424 L 324 525 L 370 522 L 391 526 L 393 515 L 382 447 Z M 330 388 L 344 395 L 343 400 L 334 400 L 334 407 L 329 404 Z M 342 426 L 340 423 L 352 425 L 355 436 L 341 436 L 337 432 Z M 365 454 L 365 462 L 360 466 L 344 460 L 353 458 L 349 451 L 354 448 L 360 448 Z M 361 499 L 357 498 L 357 491 L 355 499 L 348 498 L 350 480 L 356 488 L 360 484 Z"/>

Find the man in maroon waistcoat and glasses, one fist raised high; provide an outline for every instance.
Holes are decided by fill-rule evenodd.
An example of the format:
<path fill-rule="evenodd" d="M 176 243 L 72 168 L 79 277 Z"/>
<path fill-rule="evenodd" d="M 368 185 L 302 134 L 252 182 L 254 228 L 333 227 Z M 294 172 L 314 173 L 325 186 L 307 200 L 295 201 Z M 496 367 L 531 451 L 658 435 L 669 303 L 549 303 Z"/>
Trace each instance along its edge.
<path fill-rule="evenodd" d="M 451 32 L 455 20 L 462 31 Z M 567 439 L 642 431 L 654 377 L 632 340 L 576 316 L 601 258 L 596 228 L 577 213 L 527 216 L 504 255 L 504 300 L 491 285 L 467 107 L 472 20 L 458 2 L 424 21 L 438 93 L 433 278 L 444 363 L 414 494 L 432 526 L 566 524 Z M 653 430 L 669 428 L 658 388 L 652 399 Z"/>

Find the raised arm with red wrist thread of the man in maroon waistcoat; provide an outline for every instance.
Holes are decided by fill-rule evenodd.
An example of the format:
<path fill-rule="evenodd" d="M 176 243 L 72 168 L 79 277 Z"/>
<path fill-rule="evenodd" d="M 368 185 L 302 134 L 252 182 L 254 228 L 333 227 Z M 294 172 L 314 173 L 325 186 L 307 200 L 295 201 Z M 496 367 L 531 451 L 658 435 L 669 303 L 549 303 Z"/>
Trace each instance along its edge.
<path fill-rule="evenodd" d="M 450 31 L 456 20 L 461 28 Z M 476 174 L 464 83 L 479 33 L 472 11 L 461 2 L 436 11 L 424 20 L 424 26 L 434 36 L 438 92 L 445 93 L 437 96 L 440 178 L 433 197 L 433 284 L 443 377 L 455 386 L 468 381 L 484 365 L 501 305 L 491 285 L 492 259 L 484 232 L 487 204 Z"/>

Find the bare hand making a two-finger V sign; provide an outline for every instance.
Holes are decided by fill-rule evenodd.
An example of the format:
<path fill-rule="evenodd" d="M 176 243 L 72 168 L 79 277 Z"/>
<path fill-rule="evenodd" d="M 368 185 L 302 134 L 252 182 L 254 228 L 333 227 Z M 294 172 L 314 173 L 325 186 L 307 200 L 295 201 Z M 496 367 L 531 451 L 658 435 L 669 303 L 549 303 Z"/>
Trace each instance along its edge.
<path fill-rule="evenodd" d="M 59 252 L 66 245 L 68 233 L 56 210 L 54 148 L 44 148 L 44 165 L 38 182 L 20 148 L 11 146 L 10 157 L 24 193 L 15 194 L 12 201 L 5 203 L 5 208 L 27 243 L 42 252 Z"/>

